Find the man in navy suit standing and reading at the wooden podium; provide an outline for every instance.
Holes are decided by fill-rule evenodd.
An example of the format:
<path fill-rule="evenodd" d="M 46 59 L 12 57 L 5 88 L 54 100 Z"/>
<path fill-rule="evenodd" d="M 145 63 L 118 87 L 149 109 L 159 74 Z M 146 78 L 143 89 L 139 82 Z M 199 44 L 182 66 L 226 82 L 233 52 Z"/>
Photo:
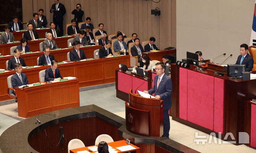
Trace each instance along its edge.
<path fill-rule="evenodd" d="M 163 100 L 163 136 L 169 138 L 170 120 L 168 111 L 172 107 L 172 80 L 164 74 L 166 66 L 162 62 L 156 63 L 156 74 L 154 87 L 144 93 L 155 93 L 155 99 Z"/>

